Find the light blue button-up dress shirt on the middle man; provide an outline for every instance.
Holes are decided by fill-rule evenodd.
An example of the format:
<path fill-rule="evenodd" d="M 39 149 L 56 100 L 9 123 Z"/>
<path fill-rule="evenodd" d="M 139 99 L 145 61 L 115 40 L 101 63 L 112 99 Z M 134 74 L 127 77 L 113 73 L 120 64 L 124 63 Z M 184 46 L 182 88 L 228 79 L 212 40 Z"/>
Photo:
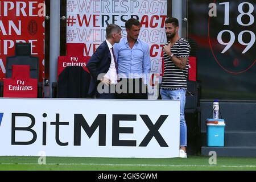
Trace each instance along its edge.
<path fill-rule="evenodd" d="M 142 78 L 147 83 L 150 73 L 150 49 L 146 42 L 137 39 L 133 48 L 129 47 L 127 38 L 114 44 L 114 53 L 118 63 L 119 78 Z"/>

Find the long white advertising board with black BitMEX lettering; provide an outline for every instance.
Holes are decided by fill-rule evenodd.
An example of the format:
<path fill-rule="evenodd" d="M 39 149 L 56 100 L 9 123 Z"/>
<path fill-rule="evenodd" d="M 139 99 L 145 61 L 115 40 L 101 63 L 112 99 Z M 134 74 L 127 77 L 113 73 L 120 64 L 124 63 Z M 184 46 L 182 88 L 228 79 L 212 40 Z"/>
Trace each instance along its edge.
<path fill-rule="evenodd" d="M 0 99 L 0 156 L 174 158 L 177 100 Z"/>

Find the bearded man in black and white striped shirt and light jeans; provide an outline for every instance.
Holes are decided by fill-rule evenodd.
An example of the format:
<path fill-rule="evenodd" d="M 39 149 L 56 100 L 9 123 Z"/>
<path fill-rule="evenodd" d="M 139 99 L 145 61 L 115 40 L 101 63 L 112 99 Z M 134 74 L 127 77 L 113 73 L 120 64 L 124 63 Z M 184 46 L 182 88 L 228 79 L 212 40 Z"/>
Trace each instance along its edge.
<path fill-rule="evenodd" d="M 165 29 L 168 42 L 163 47 L 164 73 L 160 94 L 163 100 L 180 100 L 180 157 L 187 158 L 184 107 L 190 46 L 187 40 L 180 38 L 179 21 L 176 18 L 167 18 Z"/>

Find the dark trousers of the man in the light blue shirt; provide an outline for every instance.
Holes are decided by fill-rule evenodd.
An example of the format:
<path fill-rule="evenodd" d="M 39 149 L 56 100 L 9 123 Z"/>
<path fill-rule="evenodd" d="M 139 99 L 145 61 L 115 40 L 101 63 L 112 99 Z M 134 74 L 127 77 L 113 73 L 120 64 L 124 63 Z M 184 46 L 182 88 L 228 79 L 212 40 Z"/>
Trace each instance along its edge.
<path fill-rule="evenodd" d="M 142 78 L 120 78 L 117 84 L 118 99 L 147 99 L 147 86 Z M 118 92 L 122 90 L 122 93 Z"/>

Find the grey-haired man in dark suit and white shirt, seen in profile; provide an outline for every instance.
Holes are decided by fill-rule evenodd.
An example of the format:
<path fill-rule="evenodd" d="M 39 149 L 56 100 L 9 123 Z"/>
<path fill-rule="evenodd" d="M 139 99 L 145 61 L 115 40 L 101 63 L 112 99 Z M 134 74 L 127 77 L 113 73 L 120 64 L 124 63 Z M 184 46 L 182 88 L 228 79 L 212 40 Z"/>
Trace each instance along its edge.
<path fill-rule="evenodd" d="M 117 63 L 113 45 L 122 38 L 122 28 L 116 24 L 106 27 L 106 40 L 96 49 L 86 67 L 93 77 L 96 98 L 115 98 Z"/>

